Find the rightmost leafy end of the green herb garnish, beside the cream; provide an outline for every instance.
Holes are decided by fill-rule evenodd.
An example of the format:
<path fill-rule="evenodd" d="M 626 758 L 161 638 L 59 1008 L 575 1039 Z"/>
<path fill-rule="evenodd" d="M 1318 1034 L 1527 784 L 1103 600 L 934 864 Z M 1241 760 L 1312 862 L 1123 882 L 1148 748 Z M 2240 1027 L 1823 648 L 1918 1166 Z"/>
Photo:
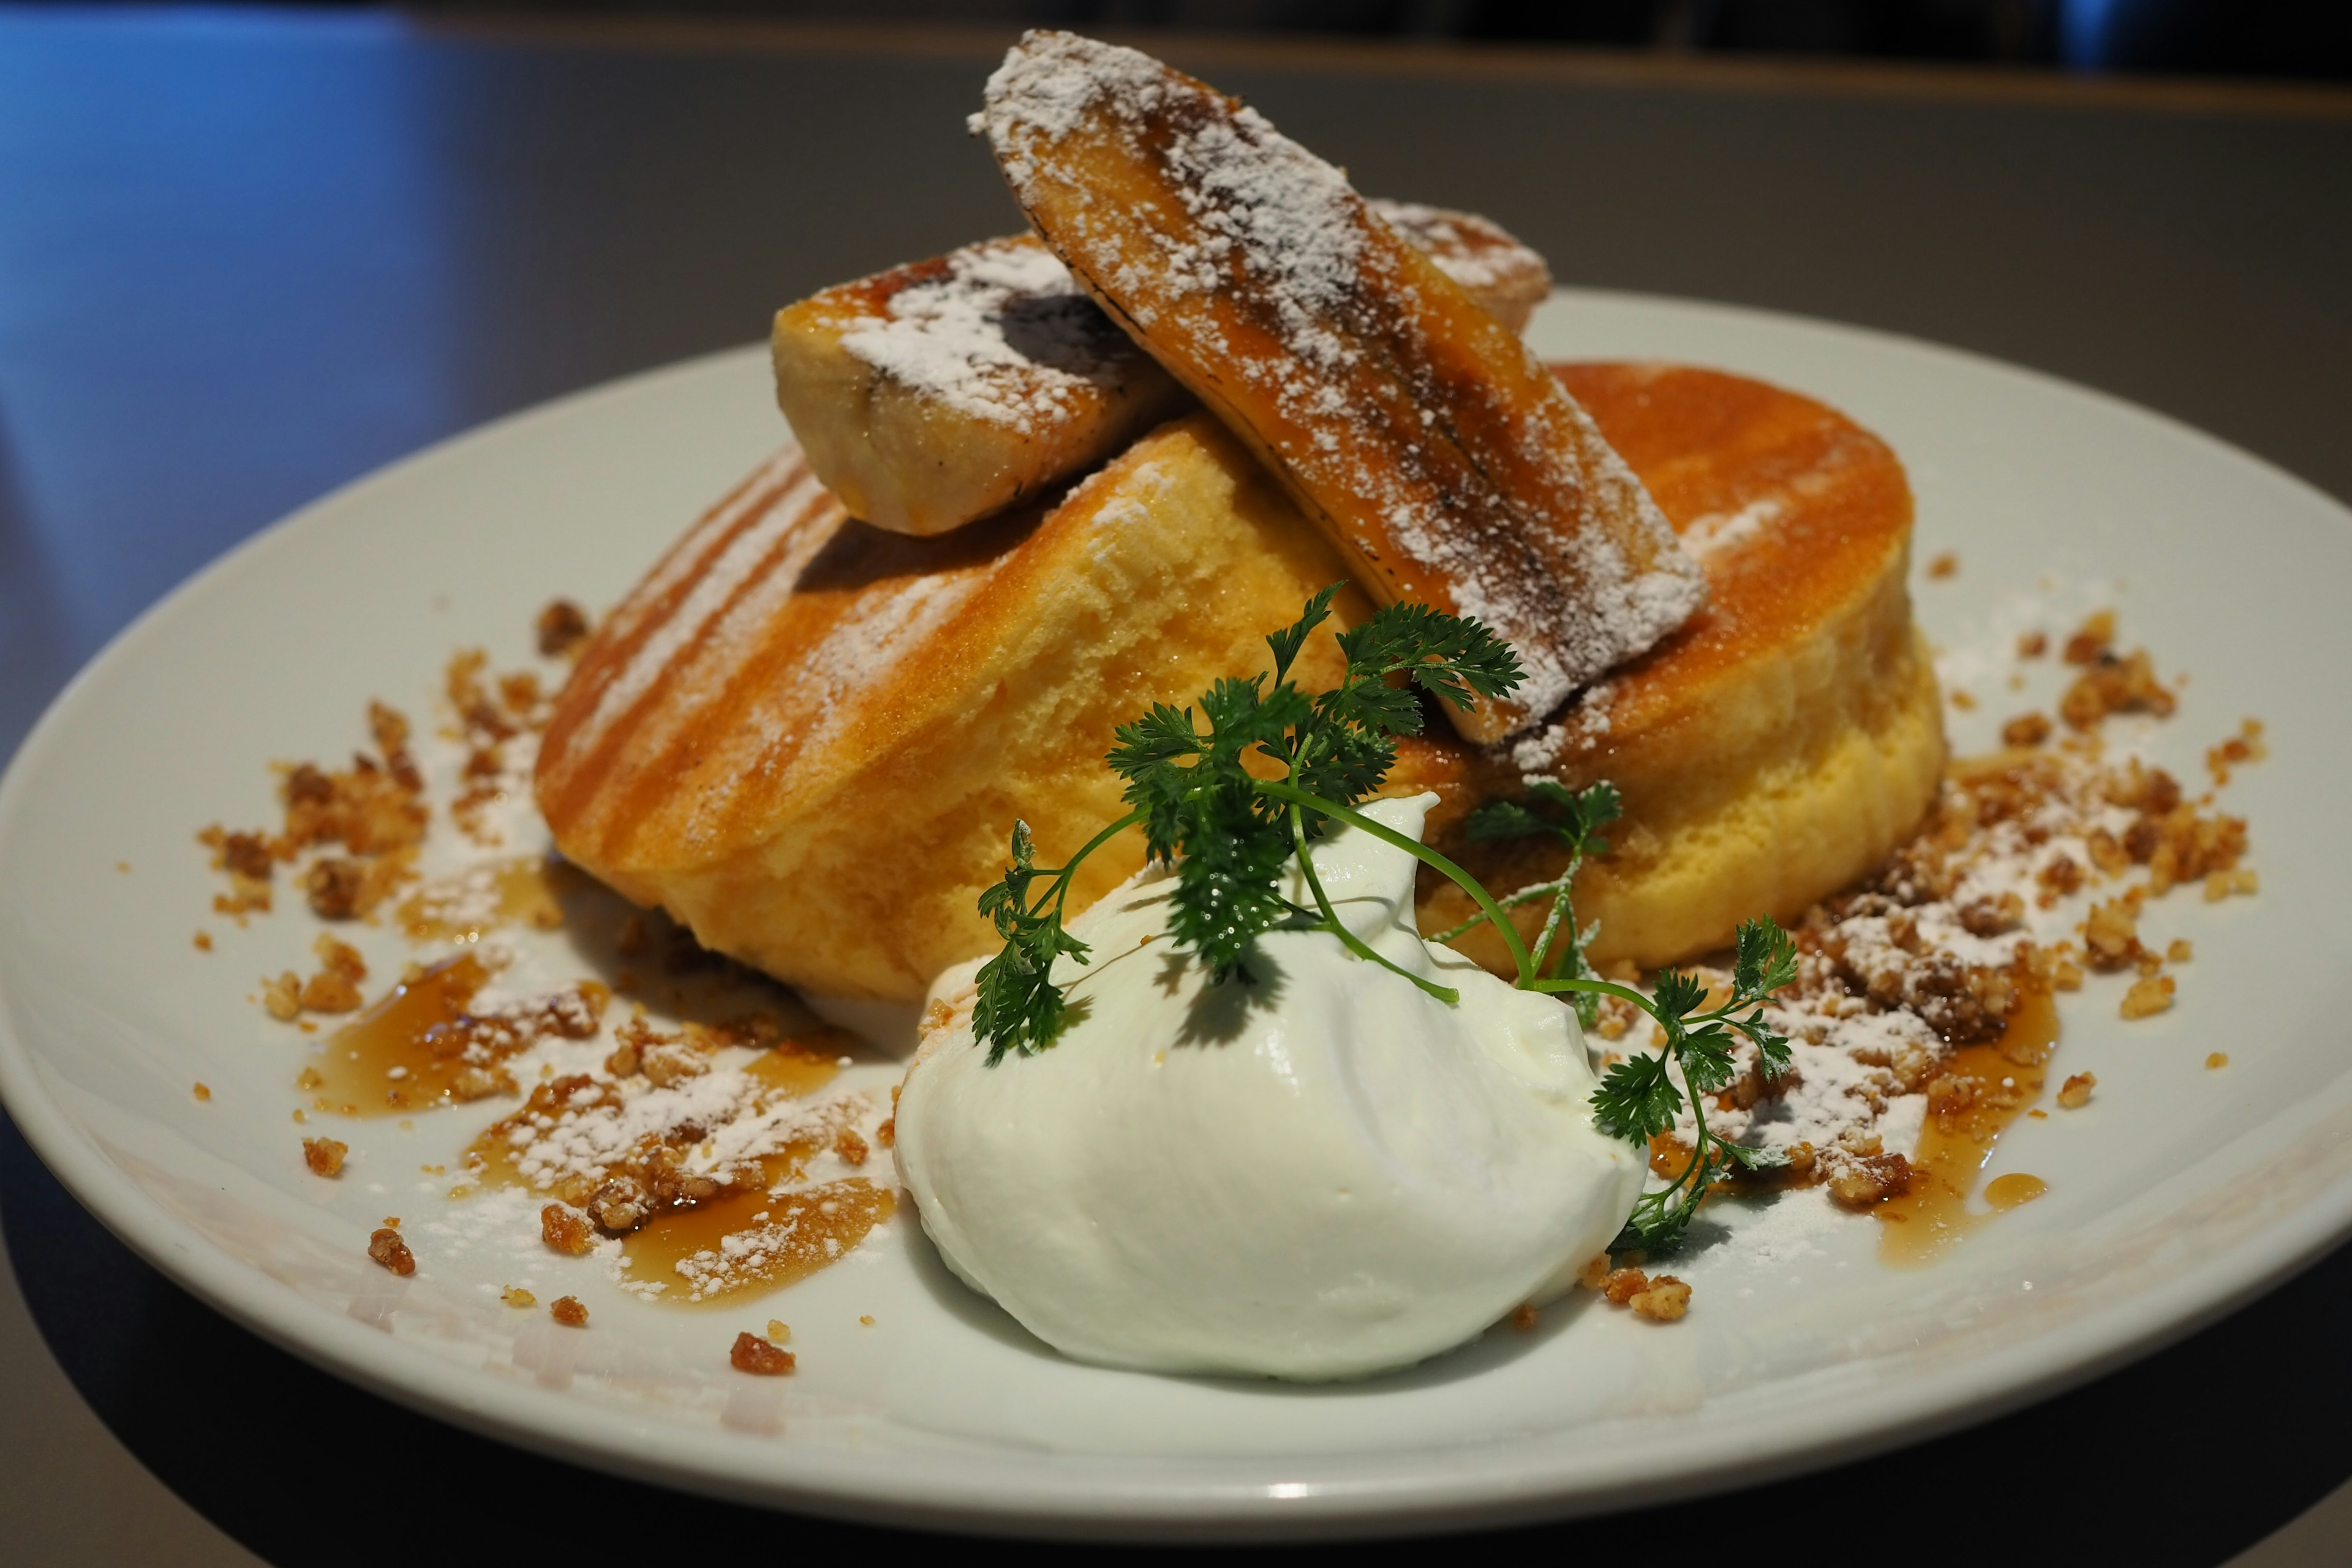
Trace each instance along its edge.
<path fill-rule="evenodd" d="M 1632 1056 L 1609 1070 L 1592 1091 L 1592 1121 L 1613 1138 L 1649 1147 L 1672 1131 L 1684 1105 L 1696 1143 L 1682 1173 L 1656 1192 L 1644 1192 L 1632 1218 L 1609 1251 L 1661 1251 L 1682 1239 L 1698 1201 L 1717 1180 L 1738 1171 L 1788 1164 L 1773 1150 L 1750 1150 L 1708 1126 L 1705 1098 L 1738 1077 L 1738 1039 L 1757 1048 L 1757 1072 L 1776 1079 L 1790 1067 L 1788 1037 L 1764 1020 L 1764 999 L 1797 978 L 1797 943 L 1769 914 L 1743 922 L 1731 966 L 1731 999 L 1698 1011 L 1708 987 L 1696 976 L 1665 971 L 1653 997 L 1609 980 L 1541 980 L 1536 990 L 1573 990 L 1623 997 L 1658 1020 L 1665 1041 L 1656 1053 Z M 1682 1084 L 1675 1081 L 1679 1072 Z"/>

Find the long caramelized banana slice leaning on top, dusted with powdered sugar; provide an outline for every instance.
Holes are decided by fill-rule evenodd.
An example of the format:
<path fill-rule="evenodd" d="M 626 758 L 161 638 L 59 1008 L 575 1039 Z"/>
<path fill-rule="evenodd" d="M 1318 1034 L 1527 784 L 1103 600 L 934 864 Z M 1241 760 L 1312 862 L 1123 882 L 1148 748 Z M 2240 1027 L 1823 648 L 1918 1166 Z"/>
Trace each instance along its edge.
<path fill-rule="evenodd" d="M 1583 409 L 1338 169 L 1148 54 L 1028 33 L 981 125 L 1110 315 L 1284 480 L 1381 599 L 1472 614 L 1552 712 L 1705 597 Z"/>

